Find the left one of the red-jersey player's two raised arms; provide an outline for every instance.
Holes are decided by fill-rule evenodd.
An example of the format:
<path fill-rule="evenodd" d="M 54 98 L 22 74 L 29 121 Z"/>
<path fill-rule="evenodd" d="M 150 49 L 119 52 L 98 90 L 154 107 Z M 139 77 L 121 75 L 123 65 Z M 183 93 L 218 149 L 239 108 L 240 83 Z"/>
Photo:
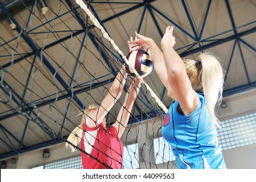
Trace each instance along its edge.
<path fill-rule="evenodd" d="M 108 90 L 108 94 L 106 94 L 103 101 L 101 101 L 101 105 L 97 107 L 97 109 L 89 112 L 87 125 L 89 127 L 95 127 L 98 123 L 101 123 L 106 114 L 112 109 L 113 105 L 120 98 L 121 93 L 123 92 L 123 86 L 125 85 L 125 81 L 127 78 L 127 73 L 125 72 L 124 66 L 121 68 L 118 75 L 114 79 L 110 89 Z"/>

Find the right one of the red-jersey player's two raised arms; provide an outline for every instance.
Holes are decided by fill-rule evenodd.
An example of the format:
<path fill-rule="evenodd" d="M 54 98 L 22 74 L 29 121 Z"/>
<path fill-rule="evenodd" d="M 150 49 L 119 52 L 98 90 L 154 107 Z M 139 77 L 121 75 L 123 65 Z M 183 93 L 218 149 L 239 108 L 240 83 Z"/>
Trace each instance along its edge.
<path fill-rule="evenodd" d="M 121 106 L 121 109 L 118 113 L 118 117 L 116 118 L 116 122 L 114 123 L 120 138 L 121 135 L 123 135 L 123 131 L 125 131 L 131 109 L 133 108 L 133 104 L 135 103 L 139 91 L 140 81 L 137 77 L 135 77 L 131 86 L 129 87 L 127 94 L 125 95 L 125 101 L 123 102 L 123 105 Z"/>

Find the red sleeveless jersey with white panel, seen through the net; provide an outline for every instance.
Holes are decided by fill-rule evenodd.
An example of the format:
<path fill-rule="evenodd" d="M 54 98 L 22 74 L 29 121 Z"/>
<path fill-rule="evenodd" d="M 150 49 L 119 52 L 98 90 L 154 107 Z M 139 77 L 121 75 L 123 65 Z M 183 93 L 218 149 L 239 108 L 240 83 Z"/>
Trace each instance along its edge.
<path fill-rule="evenodd" d="M 108 129 L 104 129 L 103 123 L 95 127 L 88 127 L 88 125 L 84 124 L 81 149 L 96 158 L 93 159 L 82 151 L 84 169 L 106 169 L 108 168 L 107 166 L 121 169 L 122 167 L 123 142 L 118 137 L 118 131 L 113 125 Z"/>

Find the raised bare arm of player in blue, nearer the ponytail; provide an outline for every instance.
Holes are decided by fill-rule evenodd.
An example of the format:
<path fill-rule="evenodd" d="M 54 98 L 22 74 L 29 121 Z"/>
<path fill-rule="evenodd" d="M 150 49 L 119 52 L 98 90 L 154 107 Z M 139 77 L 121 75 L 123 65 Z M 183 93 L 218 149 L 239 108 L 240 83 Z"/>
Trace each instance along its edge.
<path fill-rule="evenodd" d="M 168 92 L 168 96 L 178 100 L 184 114 L 187 115 L 197 107 L 199 104 L 199 97 L 191 86 L 183 60 L 172 48 L 175 44 L 175 38 L 172 36 L 172 31 L 173 27 L 167 27 L 165 35 L 161 40 L 163 58 L 167 70 L 168 85 L 172 87 L 172 92 Z"/>

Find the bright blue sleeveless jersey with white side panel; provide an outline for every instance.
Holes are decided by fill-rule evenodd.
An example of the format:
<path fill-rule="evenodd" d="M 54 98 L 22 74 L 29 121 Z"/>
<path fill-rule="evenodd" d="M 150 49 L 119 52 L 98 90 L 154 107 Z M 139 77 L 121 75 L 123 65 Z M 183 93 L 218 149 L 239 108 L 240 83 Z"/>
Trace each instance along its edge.
<path fill-rule="evenodd" d="M 198 96 L 199 105 L 187 116 L 178 114 L 178 101 L 170 105 L 163 137 L 171 144 L 178 168 L 226 168 L 217 143 L 216 126 L 206 109 L 205 98 Z"/>

